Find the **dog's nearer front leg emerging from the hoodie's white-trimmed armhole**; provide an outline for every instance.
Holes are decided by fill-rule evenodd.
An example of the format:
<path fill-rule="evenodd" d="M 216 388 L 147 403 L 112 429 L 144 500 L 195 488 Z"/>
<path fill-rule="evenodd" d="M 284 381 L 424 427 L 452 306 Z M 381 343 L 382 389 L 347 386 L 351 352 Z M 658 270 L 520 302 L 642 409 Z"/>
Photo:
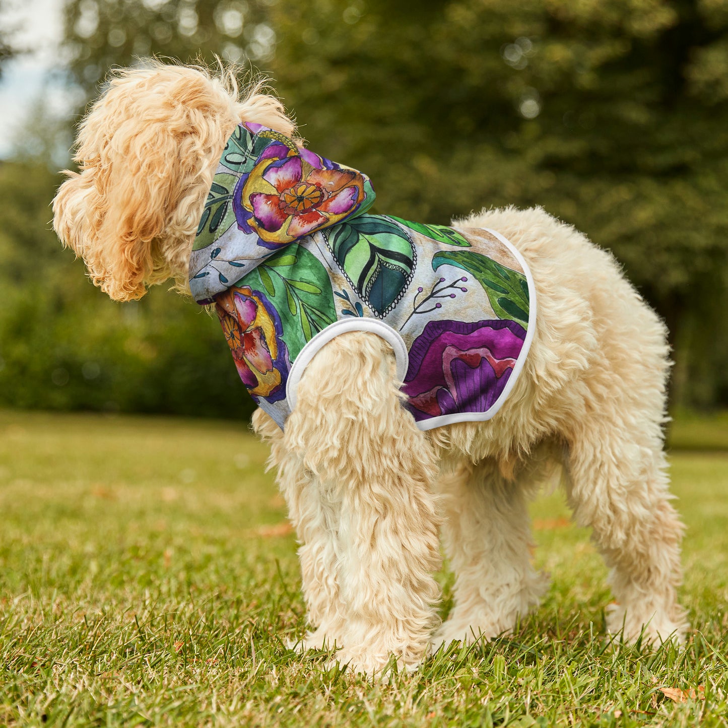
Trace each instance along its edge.
<path fill-rule="evenodd" d="M 435 454 L 400 404 L 394 369 L 379 336 L 341 334 L 301 378 L 284 438 L 330 513 L 328 580 L 344 610 L 336 659 L 368 675 L 392 654 L 415 668 L 438 622 Z"/>

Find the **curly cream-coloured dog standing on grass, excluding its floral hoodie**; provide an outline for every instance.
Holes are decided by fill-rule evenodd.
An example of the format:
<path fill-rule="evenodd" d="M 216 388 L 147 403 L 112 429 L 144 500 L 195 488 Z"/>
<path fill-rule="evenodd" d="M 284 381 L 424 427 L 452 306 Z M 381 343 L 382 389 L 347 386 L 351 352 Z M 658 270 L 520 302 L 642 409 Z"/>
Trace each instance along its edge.
<path fill-rule="evenodd" d="M 294 130 L 258 87 L 240 98 L 231 73 L 153 64 L 112 76 L 79 130 L 80 172 L 54 201 L 60 239 L 111 298 L 170 279 L 189 291 L 197 223 L 240 121 Z M 342 665 L 372 674 L 392 654 L 414 668 L 433 644 L 507 633 L 547 587 L 531 566 L 527 503 L 554 462 L 612 570 L 609 630 L 681 640 L 664 325 L 609 253 L 539 208 L 484 210 L 458 225 L 502 233 L 536 286 L 529 356 L 494 419 L 418 430 L 389 344 L 365 332 L 314 357 L 285 433 L 261 410 L 253 417 L 301 544 L 313 631 L 299 645 L 335 645 Z M 440 529 L 456 574 L 442 625 Z"/>

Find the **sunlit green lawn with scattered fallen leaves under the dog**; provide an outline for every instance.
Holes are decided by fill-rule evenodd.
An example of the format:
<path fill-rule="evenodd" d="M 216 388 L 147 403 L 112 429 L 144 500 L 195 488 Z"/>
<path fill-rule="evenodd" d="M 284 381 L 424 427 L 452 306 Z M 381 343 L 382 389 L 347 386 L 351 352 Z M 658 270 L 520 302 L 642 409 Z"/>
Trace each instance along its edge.
<path fill-rule="evenodd" d="M 0 412 L 0 725 L 728 725 L 728 453 L 670 456 L 684 649 L 604 636 L 606 571 L 549 496 L 541 608 L 389 684 L 285 646 L 304 607 L 265 457 L 232 423 Z"/>

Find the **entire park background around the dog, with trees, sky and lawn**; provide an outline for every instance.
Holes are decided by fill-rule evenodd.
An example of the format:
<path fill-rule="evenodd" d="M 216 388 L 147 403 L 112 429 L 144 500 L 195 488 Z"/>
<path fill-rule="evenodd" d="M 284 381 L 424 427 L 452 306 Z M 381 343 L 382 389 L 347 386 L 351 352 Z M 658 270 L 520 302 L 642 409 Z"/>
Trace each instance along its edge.
<path fill-rule="evenodd" d="M 151 54 L 268 74 L 378 212 L 542 205 L 612 250 L 670 329 L 687 644 L 613 644 L 557 491 L 513 637 L 389 684 L 289 649 L 295 536 L 217 320 L 109 301 L 50 226 L 84 106 Z M 728 728 L 728 0 L 0 0 L 0 74 L 0 724 Z"/>

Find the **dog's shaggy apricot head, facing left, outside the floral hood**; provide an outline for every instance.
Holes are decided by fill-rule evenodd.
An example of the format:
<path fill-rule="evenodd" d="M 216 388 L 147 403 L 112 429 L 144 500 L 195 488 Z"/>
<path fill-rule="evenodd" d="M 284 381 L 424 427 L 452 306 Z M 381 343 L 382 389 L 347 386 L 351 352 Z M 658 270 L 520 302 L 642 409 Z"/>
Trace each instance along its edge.
<path fill-rule="evenodd" d="M 197 223 L 226 140 L 241 121 L 285 135 L 294 125 L 256 84 L 232 71 L 151 63 L 115 71 L 79 129 L 79 173 L 53 200 L 53 226 L 116 301 L 173 278 L 187 290 Z"/>

